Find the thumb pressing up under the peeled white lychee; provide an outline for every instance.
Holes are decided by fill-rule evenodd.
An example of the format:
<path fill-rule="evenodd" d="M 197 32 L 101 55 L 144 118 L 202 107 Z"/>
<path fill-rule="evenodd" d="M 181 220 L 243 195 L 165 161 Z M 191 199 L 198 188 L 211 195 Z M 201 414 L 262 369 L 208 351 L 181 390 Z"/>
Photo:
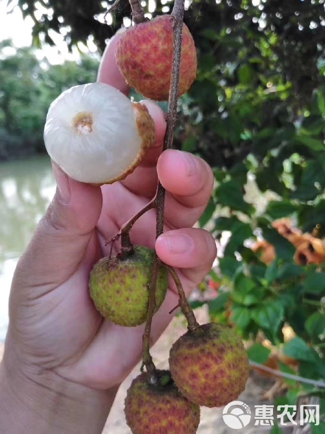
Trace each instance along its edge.
<path fill-rule="evenodd" d="M 50 290 L 68 279 L 100 215 L 100 187 L 74 181 L 55 163 L 52 167 L 56 192 L 16 267 L 14 286 L 18 288 L 46 286 Z"/>

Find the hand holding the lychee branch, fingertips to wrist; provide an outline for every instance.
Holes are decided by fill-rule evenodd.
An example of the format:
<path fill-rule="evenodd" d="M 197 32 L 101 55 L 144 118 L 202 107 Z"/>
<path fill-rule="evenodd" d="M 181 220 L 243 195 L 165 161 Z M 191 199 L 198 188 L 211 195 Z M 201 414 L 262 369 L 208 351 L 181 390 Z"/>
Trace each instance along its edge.
<path fill-rule="evenodd" d="M 127 94 L 115 65 L 115 42 L 104 53 L 98 81 Z M 134 224 L 132 243 L 155 247 L 160 259 L 177 269 L 187 295 L 211 268 L 214 240 L 192 225 L 210 197 L 212 172 L 188 153 L 161 154 L 164 114 L 152 102 L 145 104 L 154 119 L 156 141 L 125 180 L 101 188 L 90 186 L 68 178 L 53 164 L 55 196 L 14 273 L 4 355 L 4 367 L 12 370 L 17 365 L 33 382 L 36 377 L 42 382 L 41 373 L 45 381 L 50 376 L 51 384 L 59 378 L 102 396 L 139 361 L 144 325 L 121 327 L 103 319 L 89 298 L 88 277 L 92 265 L 109 253 L 105 241 L 153 197 L 157 177 L 166 189 L 164 234 L 155 241 L 155 211 L 151 210 Z M 166 298 L 153 317 L 151 342 L 166 328 L 172 317 L 168 312 L 177 302 L 170 280 Z M 48 382 L 46 387 L 51 387 Z M 102 418 L 105 411 L 107 416 L 109 408 Z"/>

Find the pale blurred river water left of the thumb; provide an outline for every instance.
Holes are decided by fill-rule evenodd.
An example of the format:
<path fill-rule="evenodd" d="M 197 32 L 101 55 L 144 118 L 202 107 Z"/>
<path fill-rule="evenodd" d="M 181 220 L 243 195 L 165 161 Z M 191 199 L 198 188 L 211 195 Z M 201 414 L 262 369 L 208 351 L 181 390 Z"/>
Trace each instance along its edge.
<path fill-rule="evenodd" d="M 8 325 L 15 266 L 54 192 L 49 157 L 0 163 L 0 341 Z"/>

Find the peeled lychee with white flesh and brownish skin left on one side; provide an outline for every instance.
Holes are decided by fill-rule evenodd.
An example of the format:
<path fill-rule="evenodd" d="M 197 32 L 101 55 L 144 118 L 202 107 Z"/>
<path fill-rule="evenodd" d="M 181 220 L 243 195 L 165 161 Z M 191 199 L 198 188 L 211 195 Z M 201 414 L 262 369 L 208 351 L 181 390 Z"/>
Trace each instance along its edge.
<path fill-rule="evenodd" d="M 103 83 L 64 91 L 52 102 L 45 148 L 71 178 L 110 184 L 125 178 L 154 142 L 154 124 L 143 104 Z"/>

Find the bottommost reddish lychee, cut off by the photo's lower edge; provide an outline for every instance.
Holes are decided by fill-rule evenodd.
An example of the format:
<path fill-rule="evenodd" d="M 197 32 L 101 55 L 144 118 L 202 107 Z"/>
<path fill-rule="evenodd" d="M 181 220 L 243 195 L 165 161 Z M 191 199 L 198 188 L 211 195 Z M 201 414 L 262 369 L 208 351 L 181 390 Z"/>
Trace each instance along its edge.
<path fill-rule="evenodd" d="M 169 371 L 157 371 L 158 383 L 149 384 L 142 372 L 127 390 L 126 423 L 133 434 L 194 434 L 199 406 L 182 396 Z"/>

